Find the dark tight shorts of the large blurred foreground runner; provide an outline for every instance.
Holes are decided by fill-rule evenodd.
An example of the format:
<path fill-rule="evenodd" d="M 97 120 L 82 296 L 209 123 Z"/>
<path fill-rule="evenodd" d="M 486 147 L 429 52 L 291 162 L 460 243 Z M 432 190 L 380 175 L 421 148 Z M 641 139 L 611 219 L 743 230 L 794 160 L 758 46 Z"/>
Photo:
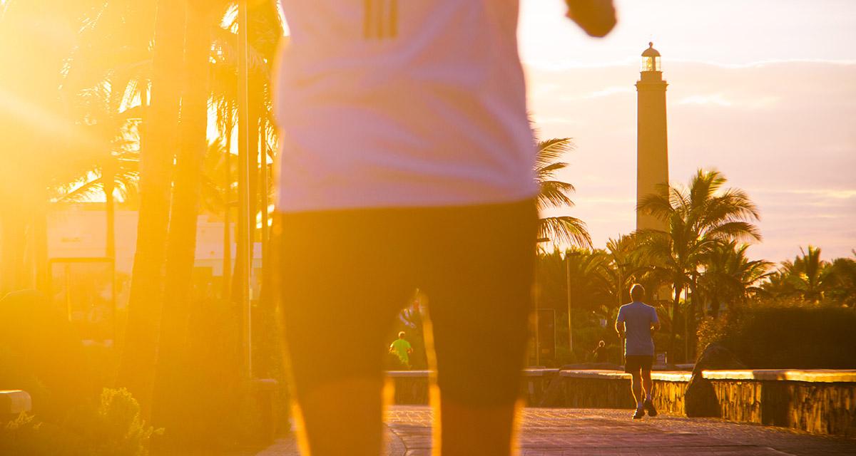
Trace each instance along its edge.
<path fill-rule="evenodd" d="M 517 399 L 538 222 L 532 200 L 278 216 L 298 400 L 325 382 L 381 382 L 385 338 L 416 288 L 428 301 L 443 397 L 473 406 Z"/>

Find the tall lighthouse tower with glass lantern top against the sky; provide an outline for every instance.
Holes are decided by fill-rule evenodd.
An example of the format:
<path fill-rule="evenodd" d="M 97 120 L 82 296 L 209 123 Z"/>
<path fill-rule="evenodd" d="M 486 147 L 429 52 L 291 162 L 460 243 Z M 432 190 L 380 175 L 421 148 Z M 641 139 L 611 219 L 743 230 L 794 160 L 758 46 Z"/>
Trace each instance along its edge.
<path fill-rule="evenodd" d="M 660 53 L 649 47 L 642 54 L 642 72 L 636 83 L 637 144 L 636 203 L 669 183 L 669 141 L 666 133 L 666 86 L 660 71 Z M 664 229 L 655 216 L 636 211 L 636 229 Z"/>

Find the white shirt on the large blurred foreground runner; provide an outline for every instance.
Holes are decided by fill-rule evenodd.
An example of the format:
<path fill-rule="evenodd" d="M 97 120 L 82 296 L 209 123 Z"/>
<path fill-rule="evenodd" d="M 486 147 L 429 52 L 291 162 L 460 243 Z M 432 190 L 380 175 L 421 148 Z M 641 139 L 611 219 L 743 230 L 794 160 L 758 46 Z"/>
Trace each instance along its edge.
<path fill-rule="evenodd" d="M 538 191 L 517 0 L 280 0 L 277 210 Z"/>

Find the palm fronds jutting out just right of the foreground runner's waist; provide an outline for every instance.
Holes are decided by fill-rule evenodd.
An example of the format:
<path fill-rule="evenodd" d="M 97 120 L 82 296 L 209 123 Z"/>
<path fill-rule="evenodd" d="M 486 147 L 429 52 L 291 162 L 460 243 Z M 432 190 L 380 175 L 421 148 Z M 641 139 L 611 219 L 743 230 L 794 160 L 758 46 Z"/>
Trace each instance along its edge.
<path fill-rule="evenodd" d="M 538 155 L 535 157 L 535 179 L 540 186 L 536 198 L 538 211 L 556 207 L 574 207 L 574 201 L 568 197 L 574 192 L 574 186 L 565 181 L 556 180 L 556 173 L 568 167 L 568 163 L 559 162 L 566 153 L 574 150 L 570 138 L 554 138 L 538 141 Z M 572 246 L 591 248 L 591 235 L 586 222 L 572 216 L 543 217 L 538 222 L 538 237 L 554 242 L 565 242 Z"/>

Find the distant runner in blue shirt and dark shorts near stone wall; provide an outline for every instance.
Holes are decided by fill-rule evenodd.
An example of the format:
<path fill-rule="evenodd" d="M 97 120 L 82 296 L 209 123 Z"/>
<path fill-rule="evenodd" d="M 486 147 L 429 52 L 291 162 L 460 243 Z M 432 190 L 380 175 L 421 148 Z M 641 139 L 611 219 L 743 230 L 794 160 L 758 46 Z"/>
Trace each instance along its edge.
<path fill-rule="evenodd" d="M 651 417 L 657 416 L 657 409 L 651 401 L 654 382 L 651 382 L 651 364 L 654 363 L 654 331 L 660 329 L 657 309 L 642 302 L 645 299 L 645 288 L 634 283 L 630 287 L 630 298 L 633 302 L 622 305 L 615 319 L 615 330 L 624 338 L 624 371 L 633 376 L 633 399 L 636 400 L 636 412 L 633 419 L 645 416 L 645 411 Z M 642 389 L 645 388 L 645 400 L 642 400 Z"/>

